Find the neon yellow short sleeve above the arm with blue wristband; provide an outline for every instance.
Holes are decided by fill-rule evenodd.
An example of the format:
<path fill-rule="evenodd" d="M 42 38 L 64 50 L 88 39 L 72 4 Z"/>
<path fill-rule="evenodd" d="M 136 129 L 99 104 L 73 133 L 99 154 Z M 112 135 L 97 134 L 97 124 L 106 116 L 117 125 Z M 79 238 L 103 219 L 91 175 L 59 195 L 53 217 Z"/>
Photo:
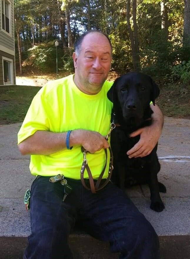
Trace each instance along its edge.
<path fill-rule="evenodd" d="M 37 93 L 26 113 L 18 133 L 18 144 L 33 135 L 36 131 L 49 131 L 48 105 L 41 91 Z"/>

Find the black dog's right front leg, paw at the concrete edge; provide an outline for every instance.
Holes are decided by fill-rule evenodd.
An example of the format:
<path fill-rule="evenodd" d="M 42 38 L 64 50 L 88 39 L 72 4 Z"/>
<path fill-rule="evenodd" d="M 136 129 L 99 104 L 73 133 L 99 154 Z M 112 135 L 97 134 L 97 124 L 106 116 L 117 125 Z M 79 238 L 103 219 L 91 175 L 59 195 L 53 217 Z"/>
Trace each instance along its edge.
<path fill-rule="evenodd" d="M 156 159 L 152 159 L 154 161 L 151 162 L 150 164 L 150 171 L 149 171 L 149 188 L 150 188 L 150 199 L 151 199 L 151 205 L 150 208 L 160 212 L 162 211 L 165 206 L 164 203 L 161 200 L 160 194 L 159 194 L 159 182 L 157 178 L 157 166 L 156 164 L 158 161 Z"/>

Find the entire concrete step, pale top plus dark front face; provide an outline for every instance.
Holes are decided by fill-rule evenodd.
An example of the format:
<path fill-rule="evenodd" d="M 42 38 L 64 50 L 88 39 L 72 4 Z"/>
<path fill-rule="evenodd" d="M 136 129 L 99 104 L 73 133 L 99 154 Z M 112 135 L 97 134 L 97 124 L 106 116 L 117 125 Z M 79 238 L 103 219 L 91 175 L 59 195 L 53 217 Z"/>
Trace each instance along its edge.
<path fill-rule="evenodd" d="M 23 197 L 34 176 L 29 172 L 29 156 L 21 156 L 18 151 L 16 135 L 20 126 L 0 125 L 0 259 L 21 259 L 31 232 L 30 213 L 25 211 Z M 158 146 L 158 178 L 167 188 L 167 193 L 161 194 L 163 212 L 149 208 L 148 187 L 126 190 L 159 235 L 161 259 L 190 259 L 189 127 L 190 120 L 165 118 Z M 85 234 L 72 234 L 70 243 L 77 259 L 118 258 L 109 252 L 109 244 Z"/>

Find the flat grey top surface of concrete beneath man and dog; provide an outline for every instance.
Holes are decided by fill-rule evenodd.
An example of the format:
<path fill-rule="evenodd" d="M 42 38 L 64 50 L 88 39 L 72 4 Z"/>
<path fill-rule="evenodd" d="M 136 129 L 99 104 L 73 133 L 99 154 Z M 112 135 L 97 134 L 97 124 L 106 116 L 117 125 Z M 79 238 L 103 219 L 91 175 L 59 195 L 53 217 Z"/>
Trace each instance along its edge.
<path fill-rule="evenodd" d="M 30 234 L 30 215 L 25 211 L 23 197 L 34 177 L 29 172 L 29 156 L 21 156 L 17 149 L 20 126 L 21 123 L 0 125 L 1 237 Z M 161 163 L 158 178 L 167 188 L 167 193 L 161 194 L 164 211 L 149 208 L 148 187 L 134 187 L 127 193 L 159 236 L 190 235 L 190 120 L 165 118 L 157 154 Z"/>

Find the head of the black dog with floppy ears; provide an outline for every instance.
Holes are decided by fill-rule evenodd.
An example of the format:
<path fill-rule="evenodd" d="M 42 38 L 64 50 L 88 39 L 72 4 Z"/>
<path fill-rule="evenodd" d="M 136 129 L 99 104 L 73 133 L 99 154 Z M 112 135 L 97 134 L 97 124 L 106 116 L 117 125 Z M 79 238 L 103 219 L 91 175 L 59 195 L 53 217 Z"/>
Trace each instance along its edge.
<path fill-rule="evenodd" d="M 114 81 L 107 97 L 113 102 L 119 121 L 121 117 L 124 120 L 139 120 L 151 101 L 155 105 L 159 93 L 159 87 L 151 77 L 140 72 L 129 72 Z"/>

